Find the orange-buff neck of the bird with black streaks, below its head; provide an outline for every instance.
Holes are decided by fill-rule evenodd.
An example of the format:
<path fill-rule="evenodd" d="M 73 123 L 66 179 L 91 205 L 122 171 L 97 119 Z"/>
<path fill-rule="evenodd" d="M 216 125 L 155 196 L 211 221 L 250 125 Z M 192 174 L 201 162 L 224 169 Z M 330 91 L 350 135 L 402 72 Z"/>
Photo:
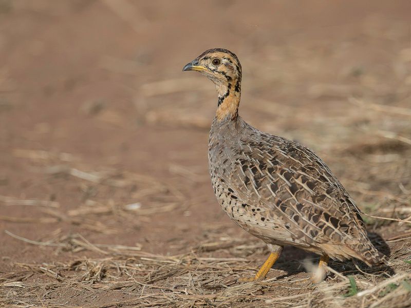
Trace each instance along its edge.
<path fill-rule="evenodd" d="M 238 117 L 238 105 L 241 97 L 241 82 L 216 85 L 218 106 L 215 114 L 217 121 L 235 120 Z"/>

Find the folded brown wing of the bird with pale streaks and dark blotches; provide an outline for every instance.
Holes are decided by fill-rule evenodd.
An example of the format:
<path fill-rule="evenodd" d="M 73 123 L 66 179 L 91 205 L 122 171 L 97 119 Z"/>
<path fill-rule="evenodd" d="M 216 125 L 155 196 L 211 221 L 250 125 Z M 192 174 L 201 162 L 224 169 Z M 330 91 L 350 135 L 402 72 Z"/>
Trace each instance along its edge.
<path fill-rule="evenodd" d="M 241 140 L 243 153 L 233 164 L 242 201 L 284 223 L 294 241 L 350 245 L 367 239 L 359 208 L 314 152 L 285 138 L 258 137 Z"/>

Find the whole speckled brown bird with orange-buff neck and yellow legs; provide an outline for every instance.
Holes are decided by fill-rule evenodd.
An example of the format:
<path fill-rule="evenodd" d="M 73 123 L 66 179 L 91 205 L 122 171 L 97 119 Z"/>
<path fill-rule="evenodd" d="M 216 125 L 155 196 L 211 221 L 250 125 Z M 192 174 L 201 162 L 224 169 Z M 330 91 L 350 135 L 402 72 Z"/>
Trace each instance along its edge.
<path fill-rule="evenodd" d="M 270 251 L 255 276 L 240 281 L 264 279 L 287 245 L 320 255 L 323 273 L 329 258 L 387 263 L 369 240 L 359 207 L 320 157 L 240 117 L 242 71 L 233 52 L 206 50 L 183 71 L 206 75 L 217 90 L 208 145 L 215 196 L 231 220 Z"/>

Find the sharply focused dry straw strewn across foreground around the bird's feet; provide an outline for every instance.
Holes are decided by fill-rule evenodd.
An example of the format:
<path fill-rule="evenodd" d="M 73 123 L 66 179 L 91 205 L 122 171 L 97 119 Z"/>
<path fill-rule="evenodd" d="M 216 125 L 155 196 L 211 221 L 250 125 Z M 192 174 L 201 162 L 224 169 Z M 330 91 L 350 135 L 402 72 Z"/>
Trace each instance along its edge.
<path fill-rule="evenodd" d="M 104 258 L 14 263 L 13 271 L 0 278 L 3 305 L 71 307 L 75 306 L 73 298 L 90 294 L 97 297 L 109 294 L 113 300 L 104 304 L 88 303 L 88 307 L 326 307 L 331 303 L 407 307 L 411 304 L 410 265 L 404 262 L 404 254 L 409 255 L 411 249 L 409 243 L 391 254 L 390 268 L 357 269 L 349 263 L 332 262 L 330 270 L 335 274 L 313 285 L 304 268 L 298 269 L 298 262 L 284 260 L 279 263 L 281 269 L 274 270 L 276 278 L 236 283 L 239 275 L 251 273 L 246 255 L 253 241 L 238 243 L 238 240 L 223 238 L 175 256 L 147 254 L 139 252 L 138 247 L 92 244 L 80 235 L 55 242 L 26 241 L 57 246 L 64 252 L 86 249 Z M 235 251 L 238 257 L 212 257 L 207 253 L 227 249 Z M 354 281 L 355 292 L 347 276 Z"/>

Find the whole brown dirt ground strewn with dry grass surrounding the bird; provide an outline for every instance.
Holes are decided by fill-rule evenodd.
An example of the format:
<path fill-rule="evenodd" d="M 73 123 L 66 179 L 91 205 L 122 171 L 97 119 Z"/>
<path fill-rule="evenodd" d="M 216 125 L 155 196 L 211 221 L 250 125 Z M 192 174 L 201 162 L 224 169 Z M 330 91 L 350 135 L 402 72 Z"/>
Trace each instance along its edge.
<path fill-rule="evenodd" d="M 316 151 L 365 214 L 411 220 L 411 2 L 0 0 L 0 305 L 409 307 L 411 228 L 364 215 L 389 266 L 267 257 L 208 175 L 223 47 L 240 114 Z"/>

